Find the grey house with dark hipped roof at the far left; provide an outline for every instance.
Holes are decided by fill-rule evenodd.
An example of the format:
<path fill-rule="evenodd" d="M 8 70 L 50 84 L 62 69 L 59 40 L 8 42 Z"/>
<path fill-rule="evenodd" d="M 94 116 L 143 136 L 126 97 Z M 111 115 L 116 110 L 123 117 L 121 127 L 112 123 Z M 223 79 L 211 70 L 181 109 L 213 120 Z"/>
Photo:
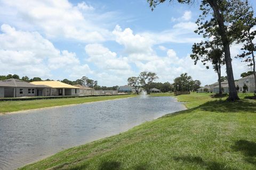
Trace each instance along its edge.
<path fill-rule="evenodd" d="M 33 97 L 38 96 L 38 90 L 42 90 L 41 94 L 50 87 L 36 86 L 34 84 L 17 80 L 7 79 L 0 81 L 0 98 L 3 97 Z M 42 96 L 42 95 L 41 95 Z"/>

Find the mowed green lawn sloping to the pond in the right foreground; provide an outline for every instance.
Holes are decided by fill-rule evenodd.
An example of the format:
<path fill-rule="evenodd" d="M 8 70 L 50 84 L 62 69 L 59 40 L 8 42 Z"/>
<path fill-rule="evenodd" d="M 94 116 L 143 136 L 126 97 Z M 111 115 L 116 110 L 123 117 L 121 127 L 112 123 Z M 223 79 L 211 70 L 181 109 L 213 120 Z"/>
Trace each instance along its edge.
<path fill-rule="evenodd" d="M 255 100 L 229 103 L 210 94 L 177 98 L 187 102 L 187 111 L 21 169 L 256 169 Z"/>

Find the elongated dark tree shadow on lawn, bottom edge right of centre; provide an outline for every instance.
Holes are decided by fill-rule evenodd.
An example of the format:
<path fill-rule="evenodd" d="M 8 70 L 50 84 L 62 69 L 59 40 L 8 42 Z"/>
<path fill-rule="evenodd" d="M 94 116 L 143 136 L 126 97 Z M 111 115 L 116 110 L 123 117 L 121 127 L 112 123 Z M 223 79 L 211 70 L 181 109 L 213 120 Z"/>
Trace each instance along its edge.
<path fill-rule="evenodd" d="M 206 168 L 209 170 L 236 170 L 235 168 L 231 168 L 223 163 L 217 163 L 217 162 L 206 162 L 199 156 L 181 156 L 181 157 L 173 157 L 176 161 L 182 161 L 183 163 L 187 164 L 197 164 L 201 166 L 202 168 Z"/>

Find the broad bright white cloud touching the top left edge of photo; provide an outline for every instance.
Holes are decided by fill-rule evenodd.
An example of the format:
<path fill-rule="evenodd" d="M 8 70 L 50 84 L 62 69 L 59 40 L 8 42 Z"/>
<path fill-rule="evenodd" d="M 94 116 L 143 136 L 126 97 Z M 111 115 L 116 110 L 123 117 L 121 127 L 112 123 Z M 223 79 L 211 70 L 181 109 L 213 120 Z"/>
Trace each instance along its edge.
<path fill-rule="evenodd" d="M 74 6 L 67 0 L 21 0 L 2 1 L 0 5 L 15 11 L 9 15 L 9 22 L 22 20 L 23 24 L 42 30 L 48 38 L 99 42 L 109 39 L 111 35 L 111 32 L 94 22 L 94 19 L 101 16 L 92 13 L 94 8 L 85 2 Z M 106 18 L 105 20 L 107 21 Z"/>

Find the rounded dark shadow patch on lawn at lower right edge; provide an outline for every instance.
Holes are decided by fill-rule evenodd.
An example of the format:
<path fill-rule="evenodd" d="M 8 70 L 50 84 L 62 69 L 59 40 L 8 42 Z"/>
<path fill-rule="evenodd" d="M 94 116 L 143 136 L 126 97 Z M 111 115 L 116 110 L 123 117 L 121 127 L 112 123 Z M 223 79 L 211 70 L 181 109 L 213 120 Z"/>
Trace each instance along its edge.
<path fill-rule="evenodd" d="M 235 145 L 231 147 L 235 151 L 241 151 L 245 158 L 245 161 L 256 165 L 256 143 L 247 140 L 238 140 Z"/>

